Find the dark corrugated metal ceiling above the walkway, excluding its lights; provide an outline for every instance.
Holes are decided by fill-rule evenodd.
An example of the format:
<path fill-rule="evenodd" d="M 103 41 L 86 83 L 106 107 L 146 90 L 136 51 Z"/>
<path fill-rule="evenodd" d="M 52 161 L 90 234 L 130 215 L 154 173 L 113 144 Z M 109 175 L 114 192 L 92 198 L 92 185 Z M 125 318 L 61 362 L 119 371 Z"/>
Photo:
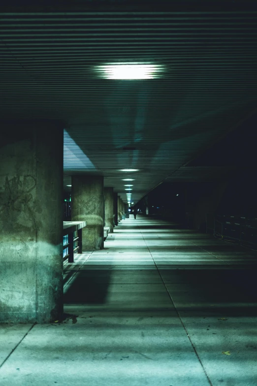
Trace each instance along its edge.
<path fill-rule="evenodd" d="M 64 186 L 71 174 L 101 174 L 125 200 L 122 179 L 133 178 L 138 201 L 256 106 L 257 12 L 0 18 L 1 116 L 64 121 Z M 97 78 L 94 66 L 112 62 L 161 64 L 165 73 Z M 183 170 L 179 180 L 191 180 Z"/>

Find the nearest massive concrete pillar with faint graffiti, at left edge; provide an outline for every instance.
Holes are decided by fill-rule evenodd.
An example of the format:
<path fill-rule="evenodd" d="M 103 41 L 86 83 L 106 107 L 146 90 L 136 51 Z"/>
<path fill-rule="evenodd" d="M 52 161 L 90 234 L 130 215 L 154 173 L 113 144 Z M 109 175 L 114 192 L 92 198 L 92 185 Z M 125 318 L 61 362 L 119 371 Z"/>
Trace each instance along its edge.
<path fill-rule="evenodd" d="M 1 121 L 0 322 L 63 312 L 63 126 Z"/>

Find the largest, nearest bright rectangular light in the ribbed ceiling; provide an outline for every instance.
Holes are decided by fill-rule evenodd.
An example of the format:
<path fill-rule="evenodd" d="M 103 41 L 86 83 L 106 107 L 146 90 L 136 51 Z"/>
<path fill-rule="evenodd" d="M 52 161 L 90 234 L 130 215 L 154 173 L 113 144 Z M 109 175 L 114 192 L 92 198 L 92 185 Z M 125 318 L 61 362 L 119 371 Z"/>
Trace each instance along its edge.
<path fill-rule="evenodd" d="M 109 63 L 95 66 L 95 71 L 104 79 L 154 79 L 160 78 L 164 66 L 143 63 Z"/>

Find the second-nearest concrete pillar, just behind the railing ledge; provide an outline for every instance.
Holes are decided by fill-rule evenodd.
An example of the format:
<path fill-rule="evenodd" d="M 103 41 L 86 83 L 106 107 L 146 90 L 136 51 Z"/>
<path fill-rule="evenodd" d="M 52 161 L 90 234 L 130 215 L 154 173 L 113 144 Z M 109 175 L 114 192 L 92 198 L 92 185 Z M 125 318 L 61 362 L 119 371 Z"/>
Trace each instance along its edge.
<path fill-rule="evenodd" d="M 100 175 L 72 175 L 71 220 L 87 221 L 82 250 L 103 248 L 104 193 Z"/>

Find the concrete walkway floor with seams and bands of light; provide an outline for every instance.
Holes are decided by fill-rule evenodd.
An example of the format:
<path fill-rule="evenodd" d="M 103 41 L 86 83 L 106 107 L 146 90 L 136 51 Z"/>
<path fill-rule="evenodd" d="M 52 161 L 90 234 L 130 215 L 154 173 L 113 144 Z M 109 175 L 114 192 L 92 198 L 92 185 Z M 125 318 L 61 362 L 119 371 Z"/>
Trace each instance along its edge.
<path fill-rule="evenodd" d="M 257 386 L 257 254 L 123 220 L 64 265 L 62 323 L 0 326 L 0 385 Z"/>

